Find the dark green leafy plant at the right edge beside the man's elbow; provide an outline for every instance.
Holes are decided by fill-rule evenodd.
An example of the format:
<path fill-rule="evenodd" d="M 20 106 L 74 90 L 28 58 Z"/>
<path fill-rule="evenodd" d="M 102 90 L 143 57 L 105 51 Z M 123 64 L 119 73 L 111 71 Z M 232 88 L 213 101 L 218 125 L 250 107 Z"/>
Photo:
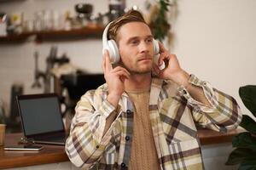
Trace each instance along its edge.
<path fill-rule="evenodd" d="M 243 104 L 256 117 L 256 86 L 247 85 L 239 88 L 239 95 Z M 239 133 L 232 139 L 233 147 L 226 165 L 240 164 L 239 170 L 256 169 L 256 122 L 247 115 L 243 115 L 240 126 L 247 132 Z"/>

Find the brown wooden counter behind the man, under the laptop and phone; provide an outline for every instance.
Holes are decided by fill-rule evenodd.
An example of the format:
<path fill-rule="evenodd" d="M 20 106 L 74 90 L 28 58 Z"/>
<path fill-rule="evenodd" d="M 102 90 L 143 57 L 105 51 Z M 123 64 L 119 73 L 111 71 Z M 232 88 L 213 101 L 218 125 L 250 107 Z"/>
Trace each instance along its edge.
<path fill-rule="evenodd" d="M 229 133 L 218 133 L 212 130 L 200 129 L 198 135 L 202 145 L 221 144 L 230 143 L 232 137 L 241 132 L 243 132 L 241 129 Z M 21 136 L 21 133 L 6 134 L 5 145 L 17 145 Z M 69 161 L 64 146 L 42 145 L 44 145 L 44 149 L 38 152 L 5 151 L 3 146 L 0 146 L 0 169 Z"/>

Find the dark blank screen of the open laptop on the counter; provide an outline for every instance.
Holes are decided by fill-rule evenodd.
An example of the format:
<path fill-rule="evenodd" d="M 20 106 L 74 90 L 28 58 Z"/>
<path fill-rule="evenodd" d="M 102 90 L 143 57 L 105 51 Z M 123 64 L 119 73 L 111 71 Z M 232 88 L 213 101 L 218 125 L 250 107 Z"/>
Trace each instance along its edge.
<path fill-rule="evenodd" d="M 32 94 L 19 96 L 17 99 L 26 136 L 63 131 L 57 95 Z"/>

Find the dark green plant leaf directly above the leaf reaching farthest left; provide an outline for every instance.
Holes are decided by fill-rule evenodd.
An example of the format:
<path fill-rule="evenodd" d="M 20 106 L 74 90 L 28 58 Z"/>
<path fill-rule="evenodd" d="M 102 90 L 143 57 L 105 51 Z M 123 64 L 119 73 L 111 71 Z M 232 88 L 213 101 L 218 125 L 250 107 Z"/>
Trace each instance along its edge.
<path fill-rule="evenodd" d="M 251 133 L 239 133 L 232 139 L 233 147 L 247 148 L 256 151 L 256 138 Z"/>

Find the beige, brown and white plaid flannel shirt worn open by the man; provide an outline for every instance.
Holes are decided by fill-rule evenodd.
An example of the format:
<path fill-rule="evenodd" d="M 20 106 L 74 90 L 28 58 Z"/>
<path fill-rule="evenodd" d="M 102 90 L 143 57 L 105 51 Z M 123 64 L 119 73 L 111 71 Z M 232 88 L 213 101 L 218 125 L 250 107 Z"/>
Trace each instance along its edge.
<path fill-rule="evenodd" d="M 162 170 L 203 169 L 195 123 L 226 132 L 241 122 L 235 99 L 194 75 L 189 83 L 203 89 L 211 106 L 196 101 L 174 82 L 152 79 L 148 109 Z M 107 95 L 104 84 L 84 94 L 76 106 L 66 152 L 77 167 L 128 169 L 134 106 L 124 93 L 116 109 L 108 103 Z M 106 119 L 113 111 L 118 116 L 103 135 Z"/>

